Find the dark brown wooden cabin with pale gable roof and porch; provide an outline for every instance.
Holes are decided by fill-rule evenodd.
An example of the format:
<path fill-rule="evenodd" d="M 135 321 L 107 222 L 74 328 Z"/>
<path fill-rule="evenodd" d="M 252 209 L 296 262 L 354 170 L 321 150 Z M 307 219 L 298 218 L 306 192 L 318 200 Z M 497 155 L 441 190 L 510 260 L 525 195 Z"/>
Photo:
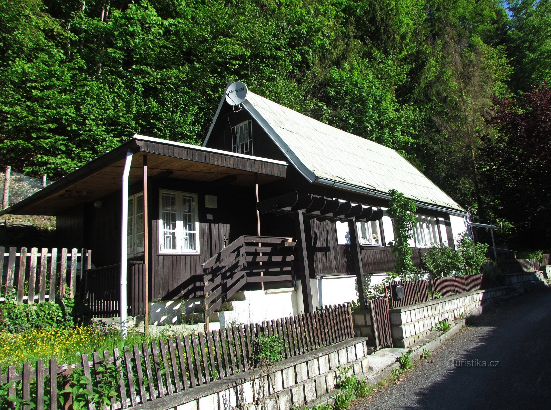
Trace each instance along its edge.
<path fill-rule="evenodd" d="M 118 316 L 123 266 L 130 316 L 213 326 L 357 299 L 395 263 L 391 189 L 418 206 L 415 265 L 466 229 L 395 150 L 249 92 L 222 97 L 203 146 L 134 135 L 2 213 L 55 215 L 58 244 L 91 250 L 96 316 Z"/>

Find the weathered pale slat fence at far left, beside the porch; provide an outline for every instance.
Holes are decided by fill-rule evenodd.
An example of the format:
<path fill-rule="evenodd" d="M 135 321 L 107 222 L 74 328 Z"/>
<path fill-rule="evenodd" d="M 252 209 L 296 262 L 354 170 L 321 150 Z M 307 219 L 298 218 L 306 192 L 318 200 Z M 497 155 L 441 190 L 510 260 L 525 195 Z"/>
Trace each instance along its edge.
<path fill-rule="evenodd" d="M 12 292 L 18 303 L 74 297 L 90 263 L 86 249 L 0 247 L 0 301 Z"/>

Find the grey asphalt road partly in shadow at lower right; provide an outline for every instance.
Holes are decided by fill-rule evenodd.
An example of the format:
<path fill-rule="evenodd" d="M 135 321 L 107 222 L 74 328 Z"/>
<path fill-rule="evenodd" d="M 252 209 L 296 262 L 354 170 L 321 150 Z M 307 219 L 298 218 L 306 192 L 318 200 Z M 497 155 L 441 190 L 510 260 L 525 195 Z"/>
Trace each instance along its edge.
<path fill-rule="evenodd" d="M 353 408 L 551 409 L 551 291 L 534 290 L 479 316 L 430 360 Z"/>

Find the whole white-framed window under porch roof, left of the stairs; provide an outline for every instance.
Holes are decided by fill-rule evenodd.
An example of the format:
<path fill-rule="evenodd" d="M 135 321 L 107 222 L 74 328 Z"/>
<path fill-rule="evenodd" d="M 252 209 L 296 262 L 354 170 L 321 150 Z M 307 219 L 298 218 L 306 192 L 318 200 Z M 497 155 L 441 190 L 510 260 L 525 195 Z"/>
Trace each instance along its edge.
<path fill-rule="evenodd" d="M 197 195 L 159 190 L 159 253 L 199 253 Z"/>

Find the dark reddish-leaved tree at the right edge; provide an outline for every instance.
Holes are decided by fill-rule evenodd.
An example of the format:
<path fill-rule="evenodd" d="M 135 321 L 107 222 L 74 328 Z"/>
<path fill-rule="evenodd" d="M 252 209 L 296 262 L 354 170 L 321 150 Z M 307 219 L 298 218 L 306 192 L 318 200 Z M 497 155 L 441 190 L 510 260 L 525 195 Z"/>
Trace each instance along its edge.
<path fill-rule="evenodd" d="M 494 214 L 513 223 L 515 246 L 551 247 L 551 88 L 542 85 L 518 102 L 494 100 L 483 139 L 483 176 Z"/>

